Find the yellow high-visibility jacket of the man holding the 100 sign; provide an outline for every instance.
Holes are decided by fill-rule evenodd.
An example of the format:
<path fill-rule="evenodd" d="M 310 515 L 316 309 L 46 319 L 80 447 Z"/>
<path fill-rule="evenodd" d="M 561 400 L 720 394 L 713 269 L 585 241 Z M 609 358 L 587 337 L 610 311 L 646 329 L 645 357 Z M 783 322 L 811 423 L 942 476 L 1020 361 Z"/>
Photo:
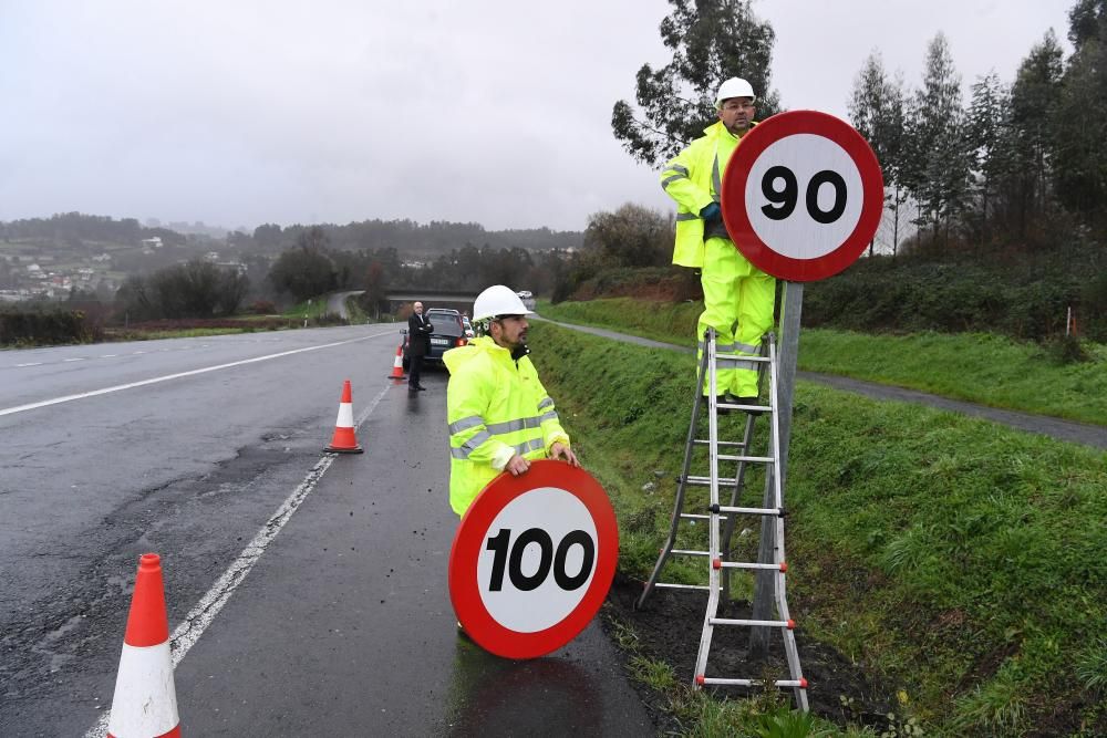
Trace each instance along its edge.
<path fill-rule="evenodd" d="M 547 458 L 556 441 L 569 445 L 569 435 L 529 356 L 515 361 L 485 335 L 442 358 L 449 370 L 449 505 L 464 514 L 515 454 Z"/>

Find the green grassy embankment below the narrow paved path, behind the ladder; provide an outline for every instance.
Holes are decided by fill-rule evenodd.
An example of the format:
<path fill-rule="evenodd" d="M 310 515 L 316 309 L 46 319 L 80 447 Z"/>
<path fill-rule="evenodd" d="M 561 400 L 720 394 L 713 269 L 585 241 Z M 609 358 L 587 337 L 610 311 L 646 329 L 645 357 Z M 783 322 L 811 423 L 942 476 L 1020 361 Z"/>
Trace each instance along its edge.
<path fill-rule="evenodd" d="M 615 506 L 620 568 L 644 579 L 672 510 L 693 361 L 549 324 L 532 326 L 530 343 Z M 723 420 L 736 435 L 738 420 Z M 806 637 L 863 664 L 892 701 L 902 693 L 928 735 L 1104 735 L 1105 461 L 798 383 L 788 586 Z M 706 579 L 692 564 L 675 575 Z"/>

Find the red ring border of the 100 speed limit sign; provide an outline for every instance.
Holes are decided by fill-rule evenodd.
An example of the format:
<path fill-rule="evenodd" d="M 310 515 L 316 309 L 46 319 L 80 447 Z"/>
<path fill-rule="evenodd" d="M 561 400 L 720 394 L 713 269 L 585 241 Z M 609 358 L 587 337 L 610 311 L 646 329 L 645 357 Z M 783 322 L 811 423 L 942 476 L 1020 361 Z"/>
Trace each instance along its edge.
<path fill-rule="evenodd" d="M 571 613 L 545 631 L 519 633 L 488 613 L 475 570 L 496 516 L 516 498 L 542 487 L 563 489 L 588 508 L 596 523 L 596 568 L 588 591 Z M 472 562 L 472 568 L 463 568 L 461 561 Z M 530 469 L 518 477 L 504 472 L 493 479 L 466 510 L 449 550 L 449 599 L 465 632 L 486 651 L 506 658 L 535 658 L 557 651 L 588 626 L 611 589 L 618 561 L 619 526 L 599 482 L 565 461 L 531 461 Z"/>

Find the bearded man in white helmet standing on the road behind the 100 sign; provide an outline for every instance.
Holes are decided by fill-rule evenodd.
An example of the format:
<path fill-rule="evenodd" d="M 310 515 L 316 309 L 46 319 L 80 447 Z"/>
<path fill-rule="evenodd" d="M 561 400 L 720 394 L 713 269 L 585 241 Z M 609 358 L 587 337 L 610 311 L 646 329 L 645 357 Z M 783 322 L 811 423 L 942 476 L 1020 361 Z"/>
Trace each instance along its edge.
<path fill-rule="evenodd" d="M 449 370 L 449 505 L 459 516 L 501 471 L 519 476 L 545 458 L 580 466 L 527 355 L 532 314 L 509 288 L 489 287 L 473 304 L 473 324 L 483 335 L 443 354 Z"/>

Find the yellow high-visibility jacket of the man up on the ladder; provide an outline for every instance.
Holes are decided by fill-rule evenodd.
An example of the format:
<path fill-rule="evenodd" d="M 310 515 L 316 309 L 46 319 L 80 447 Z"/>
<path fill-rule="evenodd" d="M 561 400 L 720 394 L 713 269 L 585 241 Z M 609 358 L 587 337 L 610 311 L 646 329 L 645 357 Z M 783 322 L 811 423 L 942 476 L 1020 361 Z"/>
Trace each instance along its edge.
<path fill-rule="evenodd" d="M 752 125 L 757 125 L 756 123 Z M 720 201 L 722 177 L 741 138 L 717 121 L 674 156 L 661 171 L 661 187 L 676 200 L 676 245 L 673 263 L 703 267 L 704 238 L 700 211 Z"/>

